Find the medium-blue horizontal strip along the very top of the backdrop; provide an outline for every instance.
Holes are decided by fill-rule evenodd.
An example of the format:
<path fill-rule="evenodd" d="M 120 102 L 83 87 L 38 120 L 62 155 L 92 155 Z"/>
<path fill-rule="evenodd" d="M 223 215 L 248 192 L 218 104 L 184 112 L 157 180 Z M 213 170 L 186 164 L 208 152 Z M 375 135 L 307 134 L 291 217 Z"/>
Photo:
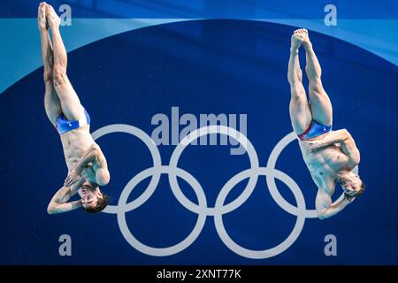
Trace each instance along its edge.
<path fill-rule="evenodd" d="M 31 18 L 37 15 L 40 1 L 5 0 L 1 17 Z M 323 18 L 325 5 L 338 7 L 341 19 L 395 19 L 396 2 L 344 0 L 56 0 L 54 7 L 70 4 L 78 18 Z"/>

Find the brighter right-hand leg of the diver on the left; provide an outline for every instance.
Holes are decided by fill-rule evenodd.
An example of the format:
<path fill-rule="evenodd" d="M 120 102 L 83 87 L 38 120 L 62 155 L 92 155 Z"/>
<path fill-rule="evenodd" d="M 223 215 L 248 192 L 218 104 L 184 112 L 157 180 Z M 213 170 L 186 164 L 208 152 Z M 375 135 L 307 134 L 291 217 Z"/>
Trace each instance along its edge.
<path fill-rule="evenodd" d="M 79 96 L 74 91 L 71 82 L 66 76 L 67 56 L 59 32 L 61 19 L 57 16 L 54 8 L 46 4 L 46 19 L 49 23 L 54 53 L 53 83 L 57 95 L 61 102 L 62 111 L 69 120 L 78 120 L 84 117 L 83 107 L 81 106 Z"/>

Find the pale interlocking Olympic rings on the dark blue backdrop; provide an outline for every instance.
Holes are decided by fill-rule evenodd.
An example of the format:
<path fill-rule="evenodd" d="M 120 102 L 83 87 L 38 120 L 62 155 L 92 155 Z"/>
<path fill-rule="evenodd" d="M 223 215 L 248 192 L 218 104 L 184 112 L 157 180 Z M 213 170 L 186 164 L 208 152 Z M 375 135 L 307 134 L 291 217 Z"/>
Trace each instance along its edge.
<path fill-rule="evenodd" d="M 108 207 L 103 210 L 103 212 L 106 213 L 117 214 L 120 232 L 123 234 L 126 241 L 134 249 L 137 249 L 144 254 L 147 254 L 149 256 L 171 256 L 179 253 L 183 249 L 187 249 L 202 232 L 206 218 L 210 216 L 214 218 L 214 224 L 216 226 L 218 236 L 220 237 L 221 241 L 224 242 L 226 247 L 228 247 L 228 249 L 231 249 L 233 252 L 240 256 L 245 256 L 248 258 L 269 258 L 272 256 L 277 256 L 280 253 L 284 252 L 297 240 L 298 236 L 302 232 L 302 228 L 304 226 L 306 218 L 317 218 L 316 210 L 306 209 L 304 196 L 302 195 L 300 187 L 295 183 L 295 180 L 290 178 L 286 173 L 281 172 L 275 168 L 275 164 L 281 151 L 285 149 L 287 144 L 296 140 L 295 133 L 287 134 L 277 143 L 274 149 L 272 149 L 272 153 L 268 159 L 266 167 L 259 166 L 256 149 L 254 149 L 249 139 L 244 134 L 241 134 L 234 128 L 228 126 L 203 126 L 196 129 L 191 134 L 188 134 L 188 136 L 182 139 L 172 152 L 172 157 L 170 158 L 170 163 L 168 165 L 162 164 L 160 153 L 157 149 L 157 145 L 155 144 L 155 142 L 152 141 L 148 134 L 146 134 L 137 127 L 124 124 L 103 126 L 102 128 L 96 130 L 92 134 L 92 136 L 94 140 L 96 140 L 105 134 L 112 133 L 132 134 L 135 137 L 139 138 L 148 147 L 153 159 L 152 167 L 136 174 L 126 184 L 126 187 L 124 187 L 120 195 L 118 205 L 108 205 Z M 249 169 L 234 175 L 230 180 L 226 182 L 224 187 L 221 188 L 214 207 L 208 207 L 203 187 L 195 179 L 195 177 L 189 172 L 178 167 L 180 156 L 184 149 L 188 146 L 188 144 L 206 134 L 226 134 L 230 137 L 233 137 L 233 139 L 236 139 L 238 142 L 240 142 L 241 145 L 246 149 L 250 162 Z M 138 241 L 134 237 L 133 233 L 130 232 L 126 223 L 126 212 L 137 209 L 149 199 L 149 197 L 155 192 L 157 184 L 160 180 L 160 176 L 162 174 L 168 175 L 172 194 L 177 198 L 181 205 L 197 214 L 197 220 L 192 232 L 189 233 L 183 241 L 180 241 L 180 243 L 168 248 L 153 248 L 143 244 L 141 241 Z M 295 221 L 295 226 L 293 227 L 292 232 L 287 236 L 284 241 L 279 243 L 279 245 L 273 247 L 272 249 L 252 250 L 241 247 L 235 241 L 233 241 L 231 236 L 226 232 L 226 227 L 223 223 L 223 215 L 238 209 L 241 204 L 246 202 L 246 200 L 254 191 L 259 176 L 266 177 L 267 187 L 270 190 L 273 200 L 278 203 L 279 207 L 294 215 L 295 217 L 297 217 L 297 219 Z M 149 177 L 151 177 L 149 186 L 144 190 L 142 195 L 134 199 L 134 201 L 127 203 L 128 196 L 131 194 L 134 187 L 136 187 L 142 180 L 145 180 Z M 189 186 L 193 188 L 198 200 L 198 204 L 192 203 L 182 193 L 177 181 L 177 177 L 188 182 Z M 227 195 L 230 193 L 233 187 L 240 183 L 242 180 L 246 179 L 249 179 L 249 182 L 244 190 L 241 192 L 241 195 L 239 195 L 233 202 L 224 204 Z M 296 207 L 291 203 L 288 203 L 285 198 L 279 194 L 279 190 L 276 187 L 275 179 L 281 180 L 287 185 L 287 187 L 289 187 L 289 189 L 295 196 L 295 202 L 297 203 Z M 343 194 L 338 200 L 335 201 L 335 203 L 340 202 L 342 198 Z"/>

